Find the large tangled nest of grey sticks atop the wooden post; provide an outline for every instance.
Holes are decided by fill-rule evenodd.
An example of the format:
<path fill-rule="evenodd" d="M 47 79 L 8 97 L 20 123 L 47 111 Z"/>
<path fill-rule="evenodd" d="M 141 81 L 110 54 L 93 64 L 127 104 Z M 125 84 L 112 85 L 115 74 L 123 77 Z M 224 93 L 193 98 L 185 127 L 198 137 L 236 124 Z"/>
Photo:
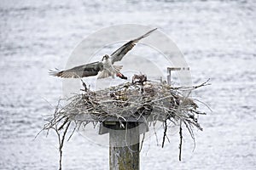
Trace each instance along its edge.
<path fill-rule="evenodd" d="M 166 82 L 137 81 L 94 92 L 84 84 L 84 93 L 67 99 L 57 115 L 76 122 L 181 120 L 202 130 L 196 115 L 205 113 L 198 111 L 195 101 L 182 92 L 204 85 L 206 82 L 191 88 L 173 88 Z"/>

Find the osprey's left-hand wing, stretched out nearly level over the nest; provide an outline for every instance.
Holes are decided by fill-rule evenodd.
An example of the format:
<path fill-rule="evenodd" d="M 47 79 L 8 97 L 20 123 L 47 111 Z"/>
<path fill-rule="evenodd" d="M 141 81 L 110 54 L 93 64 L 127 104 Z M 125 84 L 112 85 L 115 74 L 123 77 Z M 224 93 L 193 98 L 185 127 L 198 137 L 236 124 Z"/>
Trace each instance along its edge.
<path fill-rule="evenodd" d="M 49 75 L 63 78 L 92 77 L 96 76 L 98 72 L 102 70 L 102 62 L 94 62 L 87 65 L 79 65 L 66 71 L 59 71 L 57 69 L 55 71 L 49 71 Z"/>

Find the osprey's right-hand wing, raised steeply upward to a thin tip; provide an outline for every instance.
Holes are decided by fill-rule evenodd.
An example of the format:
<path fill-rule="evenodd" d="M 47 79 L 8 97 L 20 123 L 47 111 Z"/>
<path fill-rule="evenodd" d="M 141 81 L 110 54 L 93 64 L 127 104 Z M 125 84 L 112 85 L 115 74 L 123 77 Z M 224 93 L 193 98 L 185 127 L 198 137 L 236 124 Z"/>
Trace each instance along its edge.
<path fill-rule="evenodd" d="M 112 64 L 114 62 L 120 61 L 121 59 L 123 59 L 123 57 L 125 56 L 125 54 L 127 54 L 131 48 L 133 48 L 136 45 L 136 42 L 140 41 L 141 39 L 143 39 L 144 37 L 148 37 L 148 35 L 155 31 L 157 28 L 154 28 L 151 31 L 148 31 L 146 34 L 144 34 L 141 37 L 137 37 L 134 40 L 131 40 L 130 42 L 126 42 L 122 47 L 118 48 L 116 51 L 113 52 L 113 54 L 111 54 L 111 61 Z"/>

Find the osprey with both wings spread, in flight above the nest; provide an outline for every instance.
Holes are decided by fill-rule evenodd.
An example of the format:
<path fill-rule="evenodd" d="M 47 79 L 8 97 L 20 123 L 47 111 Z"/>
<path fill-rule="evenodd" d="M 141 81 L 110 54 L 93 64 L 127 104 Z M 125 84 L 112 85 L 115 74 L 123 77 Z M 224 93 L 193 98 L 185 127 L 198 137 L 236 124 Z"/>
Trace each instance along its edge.
<path fill-rule="evenodd" d="M 97 78 L 117 76 L 122 79 L 127 79 L 127 77 L 125 77 L 123 74 L 119 72 L 123 66 L 113 65 L 113 63 L 123 59 L 125 54 L 127 54 L 131 50 L 131 48 L 133 48 L 136 45 L 136 42 L 143 39 L 144 37 L 148 37 L 148 35 L 156 29 L 157 28 L 154 28 L 154 30 L 148 31 L 143 36 L 137 37 L 136 39 L 131 40 L 130 42 L 126 42 L 122 47 L 118 48 L 110 56 L 108 56 L 108 54 L 104 55 L 101 61 L 90 63 L 87 65 L 79 65 L 66 71 L 49 71 L 49 75 L 64 78 L 81 78 L 98 75 Z"/>

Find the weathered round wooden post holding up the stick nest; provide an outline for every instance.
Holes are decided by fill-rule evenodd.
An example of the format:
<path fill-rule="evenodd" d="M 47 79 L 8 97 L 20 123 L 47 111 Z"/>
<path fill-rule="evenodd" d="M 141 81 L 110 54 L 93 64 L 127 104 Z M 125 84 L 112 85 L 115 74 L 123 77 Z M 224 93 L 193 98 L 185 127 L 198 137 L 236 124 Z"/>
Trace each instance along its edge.
<path fill-rule="evenodd" d="M 109 130 L 109 169 L 110 170 L 138 170 L 139 155 L 139 122 L 119 122 L 108 126 Z"/>

